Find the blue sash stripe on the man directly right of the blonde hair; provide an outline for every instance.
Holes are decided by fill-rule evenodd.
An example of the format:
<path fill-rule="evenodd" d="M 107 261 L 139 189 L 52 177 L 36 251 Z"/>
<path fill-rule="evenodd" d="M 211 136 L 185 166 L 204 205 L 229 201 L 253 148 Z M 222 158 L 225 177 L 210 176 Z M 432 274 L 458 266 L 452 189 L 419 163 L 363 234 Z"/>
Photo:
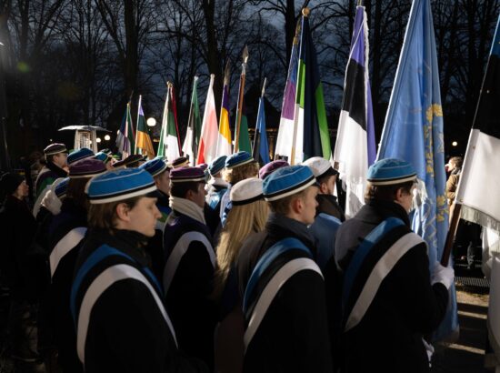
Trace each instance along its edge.
<path fill-rule="evenodd" d="M 265 270 L 271 265 L 271 263 L 273 263 L 276 257 L 279 257 L 286 251 L 293 249 L 303 250 L 307 253 L 308 256 L 311 256 L 311 251 L 307 247 L 305 247 L 305 245 L 299 239 L 294 237 L 282 239 L 276 242 L 272 247 L 269 247 L 267 251 L 265 251 L 265 254 L 255 265 L 255 268 L 252 271 L 252 275 L 248 280 L 248 285 L 246 285 L 245 297 L 243 299 L 244 312 L 246 312 L 247 310 L 249 297 L 254 292 L 255 286 L 257 285 L 260 277 L 265 272 Z"/>

